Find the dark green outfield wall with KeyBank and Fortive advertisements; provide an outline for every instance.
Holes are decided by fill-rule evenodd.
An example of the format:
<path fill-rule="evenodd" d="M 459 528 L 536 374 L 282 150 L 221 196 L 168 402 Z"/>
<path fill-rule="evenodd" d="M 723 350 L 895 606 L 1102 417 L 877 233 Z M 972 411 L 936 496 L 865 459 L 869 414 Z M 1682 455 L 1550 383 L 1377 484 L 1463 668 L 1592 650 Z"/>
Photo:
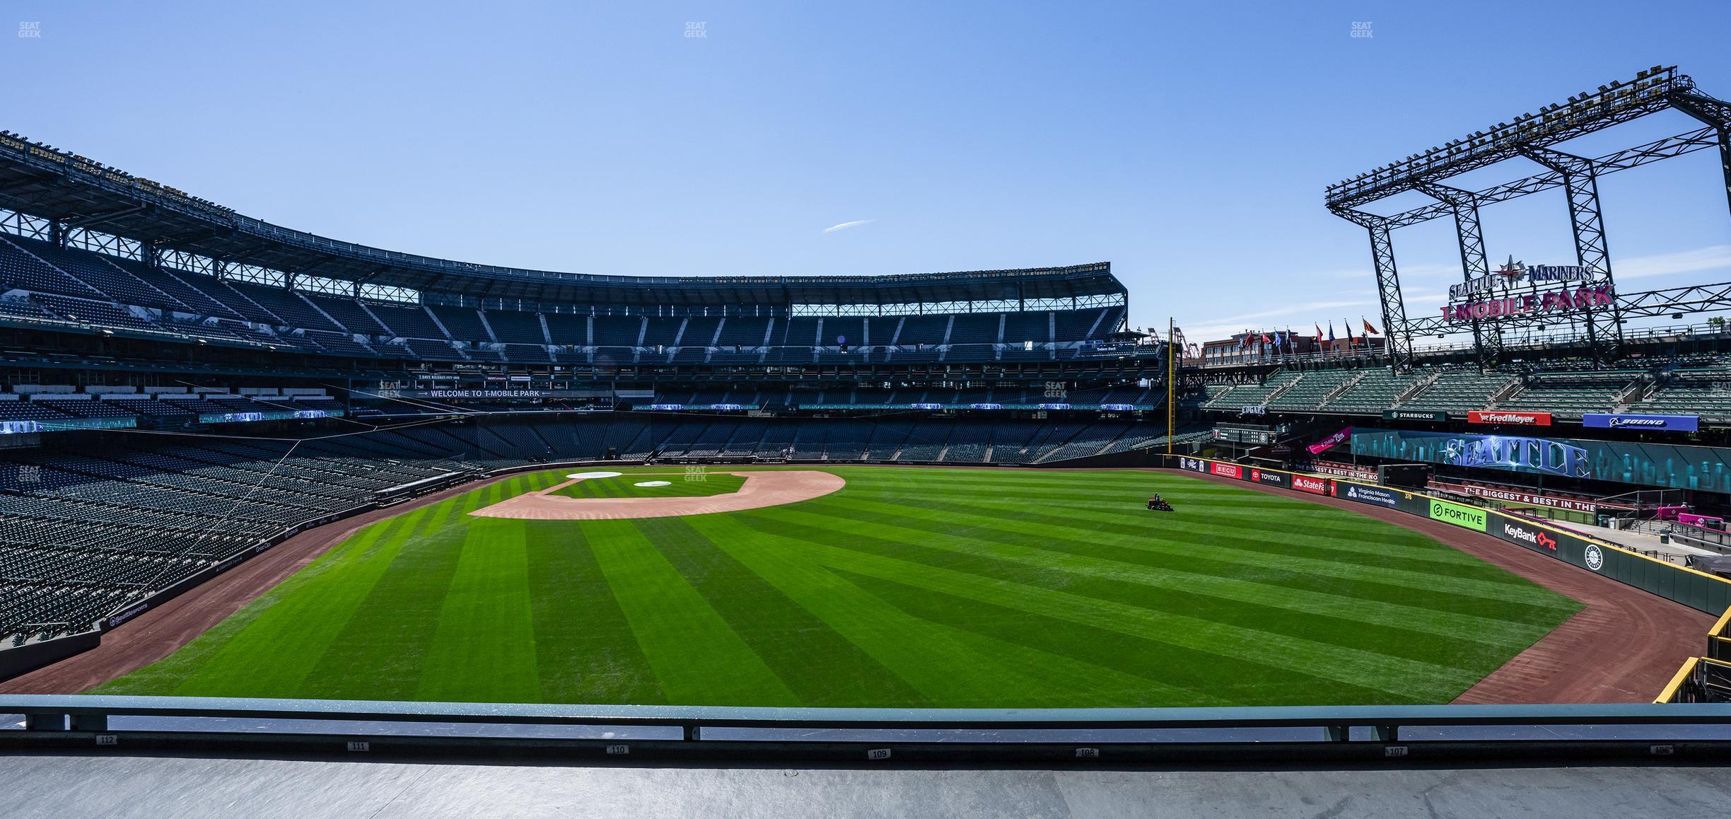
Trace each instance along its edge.
<path fill-rule="evenodd" d="M 1456 504 L 1423 492 L 1380 487 L 1328 474 L 1262 469 L 1207 457 L 1170 455 L 1165 466 L 1397 509 L 1418 518 L 1483 532 L 1527 551 L 1556 558 L 1708 615 L 1717 615 L 1731 608 L 1731 580 L 1653 559 L 1606 540 L 1577 535 L 1497 509 Z"/>

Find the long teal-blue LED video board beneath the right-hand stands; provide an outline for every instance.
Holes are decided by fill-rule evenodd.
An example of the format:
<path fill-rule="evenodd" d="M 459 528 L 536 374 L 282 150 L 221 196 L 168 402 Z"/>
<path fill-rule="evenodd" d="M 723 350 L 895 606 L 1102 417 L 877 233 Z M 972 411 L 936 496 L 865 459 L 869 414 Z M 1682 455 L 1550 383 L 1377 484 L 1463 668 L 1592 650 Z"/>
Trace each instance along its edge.
<path fill-rule="evenodd" d="M 1731 448 L 1355 428 L 1357 455 L 1731 492 Z"/>

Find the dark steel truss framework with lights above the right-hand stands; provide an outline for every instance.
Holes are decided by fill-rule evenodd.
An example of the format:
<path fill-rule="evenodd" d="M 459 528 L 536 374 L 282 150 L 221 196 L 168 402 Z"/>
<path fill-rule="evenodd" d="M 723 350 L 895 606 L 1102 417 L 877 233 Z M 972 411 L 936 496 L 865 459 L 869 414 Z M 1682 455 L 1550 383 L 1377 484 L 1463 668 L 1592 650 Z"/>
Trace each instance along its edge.
<path fill-rule="evenodd" d="M 1599 158 L 1573 156 L 1553 147 L 1665 109 L 1681 111 L 1705 126 Z M 1575 260 L 1586 268 L 1584 284 L 1613 287 L 1598 177 L 1712 147 L 1719 149 L 1726 204 L 1731 206 L 1731 102 L 1702 94 L 1691 78 L 1677 73 L 1676 66 L 1655 66 L 1636 74 L 1631 83 L 1601 85 L 1598 92 L 1570 97 L 1567 104 L 1546 106 L 1535 114 L 1515 118 L 1513 123 L 1497 123 L 1490 130 L 1329 185 L 1324 201 L 1331 213 L 1369 232 L 1383 326 L 1388 329 L 1390 364 L 1406 369 L 1412 362 L 1414 338 L 1459 332 L 1461 326 L 1440 315 L 1425 319 L 1406 315 L 1390 230 L 1433 218 L 1454 218 L 1461 277 L 1471 282 L 1490 275 L 1478 208 L 1561 187 L 1568 201 Z M 1544 171 L 1482 190 L 1463 190 L 1444 184 L 1451 177 L 1513 158 L 1532 159 Z M 1369 203 L 1407 190 L 1437 201 L 1387 216 L 1362 210 Z M 1620 345 L 1622 322 L 1629 317 L 1724 308 L 1731 308 L 1731 284 L 1617 293 L 1610 310 L 1589 310 L 1579 319 L 1586 322 L 1587 338 L 1598 355 L 1612 358 Z M 1494 364 L 1501 357 L 1503 329 L 1544 326 L 1554 320 L 1554 315 L 1546 313 L 1518 313 L 1473 319 L 1470 329 L 1480 362 Z"/>

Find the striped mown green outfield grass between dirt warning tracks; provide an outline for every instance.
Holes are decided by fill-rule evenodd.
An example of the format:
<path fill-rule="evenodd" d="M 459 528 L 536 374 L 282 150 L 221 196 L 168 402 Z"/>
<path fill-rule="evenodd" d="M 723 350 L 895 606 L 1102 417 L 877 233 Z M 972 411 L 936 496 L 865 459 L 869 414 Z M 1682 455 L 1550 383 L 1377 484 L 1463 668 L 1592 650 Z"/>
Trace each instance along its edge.
<path fill-rule="evenodd" d="M 649 468 L 642 471 L 666 471 Z M 374 523 L 109 694 L 524 703 L 1445 703 L 1579 604 L 1177 473 L 829 468 L 789 506 Z M 1177 513 L 1149 513 L 1160 492 Z"/>

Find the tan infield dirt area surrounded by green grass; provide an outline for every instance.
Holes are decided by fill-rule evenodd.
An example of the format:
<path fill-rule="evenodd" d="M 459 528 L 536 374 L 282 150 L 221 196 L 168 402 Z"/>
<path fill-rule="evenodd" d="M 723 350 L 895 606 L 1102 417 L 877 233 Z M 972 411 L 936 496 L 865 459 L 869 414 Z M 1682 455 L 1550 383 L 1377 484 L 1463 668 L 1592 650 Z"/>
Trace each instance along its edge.
<path fill-rule="evenodd" d="M 476 518 L 519 518 L 535 521 L 609 521 L 625 518 L 679 518 L 682 514 L 737 513 L 765 506 L 793 504 L 827 495 L 848 481 L 815 469 L 788 469 L 770 473 L 710 473 L 737 474 L 746 481 L 737 492 L 708 497 L 566 497 L 554 490 L 590 478 L 613 478 L 618 473 L 578 473 L 571 480 L 540 492 L 530 492 L 493 506 L 476 509 Z M 644 478 L 654 473 L 639 473 Z M 684 473 L 668 473 L 684 474 Z"/>

